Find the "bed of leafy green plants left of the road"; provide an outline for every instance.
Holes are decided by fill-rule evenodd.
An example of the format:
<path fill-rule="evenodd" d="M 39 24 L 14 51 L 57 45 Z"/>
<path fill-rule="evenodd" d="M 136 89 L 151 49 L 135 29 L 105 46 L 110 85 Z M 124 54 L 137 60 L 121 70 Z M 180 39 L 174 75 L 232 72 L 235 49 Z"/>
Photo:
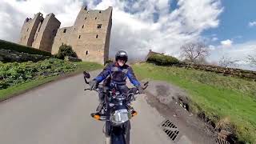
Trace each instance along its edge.
<path fill-rule="evenodd" d="M 37 78 L 71 72 L 77 67 L 75 63 L 54 58 L 40 62 L 0 63 L 0 90 Z"/>

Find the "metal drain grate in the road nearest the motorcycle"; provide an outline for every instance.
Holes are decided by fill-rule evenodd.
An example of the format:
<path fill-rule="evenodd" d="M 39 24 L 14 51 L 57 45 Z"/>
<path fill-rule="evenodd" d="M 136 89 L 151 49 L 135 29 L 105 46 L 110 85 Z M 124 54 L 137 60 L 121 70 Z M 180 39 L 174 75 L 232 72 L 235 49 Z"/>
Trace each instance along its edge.
<path fill-rule="evenodd" d="M 167 134 L 167 136 L 174 141 L 175 138 L 178 136 L 178 129 L 177 126 L 175 126 L 172 122 L 170 122 L 169 119 L 166 121 L 162 122 L 162 130 Z"/>

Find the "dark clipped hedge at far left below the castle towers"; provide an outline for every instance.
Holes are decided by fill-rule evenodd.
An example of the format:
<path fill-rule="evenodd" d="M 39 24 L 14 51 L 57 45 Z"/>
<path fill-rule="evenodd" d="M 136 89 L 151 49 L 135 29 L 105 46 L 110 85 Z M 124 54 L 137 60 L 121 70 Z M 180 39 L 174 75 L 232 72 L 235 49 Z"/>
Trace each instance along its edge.
<path fill-rule="evenodd" d="M 38 50 L 30 46 L 22 46 L 13 42 L 6 42 L 4 40 L 0 40 L 0 49 L 15 50 L 18 52 L 23 52 L 28 54 L 39 54 L 39 55 L 51 56 L 50 52 Z"/>

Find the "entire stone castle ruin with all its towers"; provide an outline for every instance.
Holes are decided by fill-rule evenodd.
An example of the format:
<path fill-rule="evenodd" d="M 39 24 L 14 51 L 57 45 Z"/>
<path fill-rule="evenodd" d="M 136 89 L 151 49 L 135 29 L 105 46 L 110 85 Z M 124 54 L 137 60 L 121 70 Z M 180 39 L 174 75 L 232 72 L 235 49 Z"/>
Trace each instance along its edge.
<path fill-rule="evenodd" d="M 59 28 L 61 22 L 54 14 L 41 13 L 26 18 L 20 44 L 57 54 L 62 44 L 72 49 L 82 61 L 104 64 L 109 58 L 112 7 L 106 10 L 87 10 L 82 6 L 73 26 Z"/>

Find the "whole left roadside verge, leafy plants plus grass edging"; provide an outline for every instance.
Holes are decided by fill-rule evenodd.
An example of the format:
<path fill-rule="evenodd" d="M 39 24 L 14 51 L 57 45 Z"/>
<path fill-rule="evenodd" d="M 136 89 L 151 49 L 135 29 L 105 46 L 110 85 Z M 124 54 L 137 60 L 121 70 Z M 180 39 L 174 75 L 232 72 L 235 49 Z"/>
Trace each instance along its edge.
<path fill-rule="evenodd" d="M 0 63 L 0 101 L 66 74 L 102 68 L 94 62 L 65 62 L 50 58 L 41 62 Z"/>

